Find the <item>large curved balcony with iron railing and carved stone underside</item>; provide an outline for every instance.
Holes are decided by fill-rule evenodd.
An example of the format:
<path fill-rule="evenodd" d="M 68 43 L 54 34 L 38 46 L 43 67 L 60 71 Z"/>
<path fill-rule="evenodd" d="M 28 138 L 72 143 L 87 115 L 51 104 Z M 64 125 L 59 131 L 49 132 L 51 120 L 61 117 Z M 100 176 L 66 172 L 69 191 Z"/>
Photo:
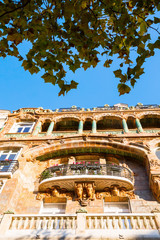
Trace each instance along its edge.
<path fill-rule="evenodd" d="M 40 177 L 39 190 L 45 191 L 52 186 L 59 186 L 73 191 L 75 182 L 94 181 L 96 190 L 103 190 L 112 185 L 133 189 L 132 172 L 116 164 L 68 164 L 45 169 Z"/>

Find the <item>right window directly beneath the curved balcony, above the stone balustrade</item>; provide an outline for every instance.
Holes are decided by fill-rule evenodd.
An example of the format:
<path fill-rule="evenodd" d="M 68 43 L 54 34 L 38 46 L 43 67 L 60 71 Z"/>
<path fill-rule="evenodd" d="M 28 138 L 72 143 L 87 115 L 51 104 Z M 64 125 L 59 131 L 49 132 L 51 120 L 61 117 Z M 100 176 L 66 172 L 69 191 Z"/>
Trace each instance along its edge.
<path fill-rule="evenodd" d="M 104 202 L 104 213 L 129 213 L 128 202 Z"/>

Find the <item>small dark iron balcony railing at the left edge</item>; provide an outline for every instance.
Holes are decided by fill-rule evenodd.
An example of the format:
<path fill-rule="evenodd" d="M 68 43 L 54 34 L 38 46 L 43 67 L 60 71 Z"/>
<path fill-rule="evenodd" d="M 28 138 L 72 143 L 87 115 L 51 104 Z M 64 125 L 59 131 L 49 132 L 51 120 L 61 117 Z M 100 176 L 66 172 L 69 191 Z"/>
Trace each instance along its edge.
<path fill-rule="evenodd" d="M 0 160 L 0 173 L 14 173 L 19 168 L 18 160 Z"/>

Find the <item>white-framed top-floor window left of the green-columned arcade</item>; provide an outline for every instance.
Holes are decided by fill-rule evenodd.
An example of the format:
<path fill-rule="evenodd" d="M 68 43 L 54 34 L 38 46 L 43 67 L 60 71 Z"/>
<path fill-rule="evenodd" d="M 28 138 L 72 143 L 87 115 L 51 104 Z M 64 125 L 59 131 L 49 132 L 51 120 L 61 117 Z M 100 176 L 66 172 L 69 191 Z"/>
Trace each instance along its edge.
<path fill-rule="evenodd" d="M 31 132 L 35 122 L 18 122 L 13 125 L 10 133 L 28 133 Z"/>

